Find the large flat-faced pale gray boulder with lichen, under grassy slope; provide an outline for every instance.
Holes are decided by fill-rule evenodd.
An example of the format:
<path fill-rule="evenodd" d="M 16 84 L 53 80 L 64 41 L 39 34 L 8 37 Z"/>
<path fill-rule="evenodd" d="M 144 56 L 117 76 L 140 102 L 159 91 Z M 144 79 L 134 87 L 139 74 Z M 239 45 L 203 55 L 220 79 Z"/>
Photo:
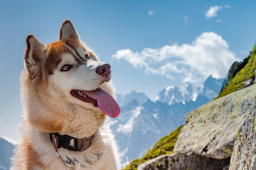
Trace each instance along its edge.
<path fill-rule="evenodd" d="M 211 101 L 187 114 L 174 152 L 193 152 L 205 157 L 231 157 L 237 132 L 247 118 L 256 85 Z"/>

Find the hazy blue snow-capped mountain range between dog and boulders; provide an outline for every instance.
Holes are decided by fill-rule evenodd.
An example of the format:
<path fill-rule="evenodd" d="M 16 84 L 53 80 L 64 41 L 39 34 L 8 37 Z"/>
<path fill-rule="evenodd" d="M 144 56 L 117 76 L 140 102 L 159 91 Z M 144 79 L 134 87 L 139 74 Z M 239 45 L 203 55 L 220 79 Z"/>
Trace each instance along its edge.
<path fill-rule="evenodd" d="M 121 114 L 110 123 L 123 163 L 142 157 L 161 137 L 182 125 L 188 112 L 218 96 L 223 81 L 209 76 L 199 87 L 169 86 L 159 92 L 154 101 L 135 91 L 122 95 L 124 101 L 117 95 Z"/>

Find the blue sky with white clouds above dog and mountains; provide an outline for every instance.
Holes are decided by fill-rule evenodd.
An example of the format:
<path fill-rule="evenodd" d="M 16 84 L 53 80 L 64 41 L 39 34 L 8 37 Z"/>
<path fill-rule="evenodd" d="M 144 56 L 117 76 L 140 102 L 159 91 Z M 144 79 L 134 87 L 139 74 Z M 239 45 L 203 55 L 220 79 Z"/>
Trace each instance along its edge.
<path fill-rule="evenodd" d="M 70 19 L 111 65 L 117 93 L 151 99 L 169 86 L 227 76 L 255 45 L 256 2 L 234 0 L 0 1 L 0 136 L 16 137 L 27 34 L 45 45 Z"/>

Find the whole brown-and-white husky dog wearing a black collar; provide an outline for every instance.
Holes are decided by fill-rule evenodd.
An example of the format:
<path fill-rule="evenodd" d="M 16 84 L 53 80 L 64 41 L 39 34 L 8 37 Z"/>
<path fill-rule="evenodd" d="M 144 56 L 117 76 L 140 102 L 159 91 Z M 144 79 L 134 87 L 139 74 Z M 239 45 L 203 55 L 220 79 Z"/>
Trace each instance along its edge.
<path fill-rule="evenodd" d="M 106 115 L 120 113 L 110 65 L 79 39 L 70 20 L 47 46 L 26 38 L 20 76 L 23 104 L 11 170 L 121 169 Z"/>

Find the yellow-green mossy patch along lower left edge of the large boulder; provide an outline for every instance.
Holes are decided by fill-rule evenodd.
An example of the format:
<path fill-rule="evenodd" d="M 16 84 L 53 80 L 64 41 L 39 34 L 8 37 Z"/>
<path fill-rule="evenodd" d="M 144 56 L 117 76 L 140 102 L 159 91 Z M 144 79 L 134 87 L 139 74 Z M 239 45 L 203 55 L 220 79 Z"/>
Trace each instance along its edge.
<path fill-rule="evenodd" d="M 157 141 L 157 143 L 155 143 L 155 145 L 153 145 L 153 148 L 148 150 L 144 157 L 131 161 L 130 164 L 124 168 L 124 170 L 137 170 L 137 167 L 141 163 L 161 155 L 173 154 L 173 149 L 182 127 L 183 125 L 178 127 L 169 135 L 162 137 L 159 141 Z"/>

